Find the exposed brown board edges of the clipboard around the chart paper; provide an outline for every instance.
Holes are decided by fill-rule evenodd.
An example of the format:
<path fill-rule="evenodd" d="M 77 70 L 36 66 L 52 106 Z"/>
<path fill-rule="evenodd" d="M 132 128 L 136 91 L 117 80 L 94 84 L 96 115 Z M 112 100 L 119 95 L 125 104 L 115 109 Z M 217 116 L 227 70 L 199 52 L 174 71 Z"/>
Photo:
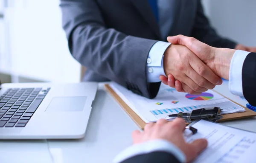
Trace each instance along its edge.
<path fill-rule="evenodd" d="M 117 95 L 117 93 L 111 88 L 111 86 L 109 84 L 105 84 L 105 89 L 108 90 L 108 92 L 113 96 L 113 98 L 119 103 L 119 105 L 122 107 L 122 109 L 130 116 L 130 118 L 135 122 L 135 124 L 137 124 L 137 126 L 140 127 L 140 129 L 144 129 L 145 126 L 145 121 L 143 121 L 139 115 L 137 115 L 132 109 L 131 107 L 128 106 L 128 104 L 125 103 L 125 101 L 122 100 L 121 97 L 119 97 Z M 217 91 L 213 90 L 214 92 L 218 93 Z M 221 95 L 221 93 L 218 93 L 219 95 Z M 223 96 L 223 95 L 221 95 Z M 226 96 L 223 96 L 225 98 L 227 98 Z M 229 99 L 229 98 L 227 98 Z M 229 99 L 230 100 L 230 99 Z M 232 113 L 232 114 L 224 114 L 222 115 L 223 118 L 221 118 L 220 120 L 218 120 L 218 122 L 222 122 L 222 121 L 230 121 L 230 120 L 235 120 L 235 119 L 242 119 L 242 118 L 250 118 L 250 117 L 254 117 L 256 116 L 256 112 L 236 103 L 233 100 L 230 100 L 233 103 L 239 105 L 240 107 L 243 107 L 245 109 L 245 112 L 238 112 L 238 113 Z"/>

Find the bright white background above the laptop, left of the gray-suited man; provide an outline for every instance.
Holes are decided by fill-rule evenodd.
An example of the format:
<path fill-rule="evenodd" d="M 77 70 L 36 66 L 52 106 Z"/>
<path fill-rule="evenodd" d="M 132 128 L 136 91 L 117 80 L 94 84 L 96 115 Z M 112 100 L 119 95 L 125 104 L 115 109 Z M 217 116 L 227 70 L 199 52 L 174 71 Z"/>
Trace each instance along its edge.
<path fill-rule="evenodd" d="M 50 82 L 79 82 L 80 64 L 68 50 L 59 0 L 11 1 L 5 8 L 11 74 Z M 18 82 L 18 78 L 13 79 Z"/>

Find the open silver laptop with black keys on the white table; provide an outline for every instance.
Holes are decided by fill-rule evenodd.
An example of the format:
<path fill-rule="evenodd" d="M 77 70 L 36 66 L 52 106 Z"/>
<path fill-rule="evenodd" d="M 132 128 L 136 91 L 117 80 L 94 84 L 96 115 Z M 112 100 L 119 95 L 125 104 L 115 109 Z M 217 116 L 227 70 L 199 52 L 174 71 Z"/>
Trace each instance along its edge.
<path fill-rule="evenodd" d="M 0 139 L 83 138 L 98 84 L 0 85 Z"/>

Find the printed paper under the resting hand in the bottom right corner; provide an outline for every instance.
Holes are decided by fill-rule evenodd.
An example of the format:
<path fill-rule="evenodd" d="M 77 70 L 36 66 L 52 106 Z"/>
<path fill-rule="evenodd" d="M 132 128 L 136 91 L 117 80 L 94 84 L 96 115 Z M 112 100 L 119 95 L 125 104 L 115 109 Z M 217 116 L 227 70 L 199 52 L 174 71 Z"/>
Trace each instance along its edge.
<path fill-rule="evenodd" d="M 186 142 L 206 138 L 207 148 L 193 163 L 255 163 L 256 133 L 200 120 L 192 125 L 195 135 L 184 133 Z M 187 136 L 186 136 L 187 135 Z"/>

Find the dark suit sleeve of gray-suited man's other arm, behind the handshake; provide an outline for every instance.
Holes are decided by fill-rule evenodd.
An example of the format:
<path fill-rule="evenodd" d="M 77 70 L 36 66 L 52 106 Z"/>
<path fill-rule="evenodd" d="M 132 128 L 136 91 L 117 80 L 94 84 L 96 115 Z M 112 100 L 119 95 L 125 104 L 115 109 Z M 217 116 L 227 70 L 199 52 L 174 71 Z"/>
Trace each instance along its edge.
<path fill-rule="evenodd" d="M 236 42 L 225 39 L 216 33 L 216 31 L 211 27 L 209 20 L 204 14 L 204 9 L 201 4 L 201 0 L 198 0 L 197 16 L 195 19 L 195 25 L 192 30 L 192 37 L 204 42 L 210 46 L 216 48 L 235 48 Z"/>

